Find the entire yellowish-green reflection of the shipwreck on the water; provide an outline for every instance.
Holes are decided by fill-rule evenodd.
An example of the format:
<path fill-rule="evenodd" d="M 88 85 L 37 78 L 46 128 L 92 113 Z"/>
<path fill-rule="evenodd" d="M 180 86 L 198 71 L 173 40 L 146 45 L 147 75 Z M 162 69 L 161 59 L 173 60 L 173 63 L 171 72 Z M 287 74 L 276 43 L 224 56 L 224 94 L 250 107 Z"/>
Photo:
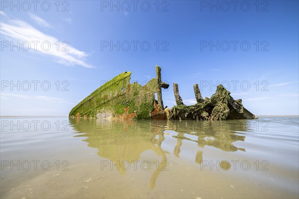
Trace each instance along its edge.
<path fill-rule="evenodd" d="M 244 148 L 234 146 L 235 141 L 245 140 L 245 131 L 250 130 L 248 120 L 230 121 L 167 121 L 167 120 L 124 120 L 101 121 L 99 119 L 70 119 L 76 137 L 86 137 L 83 141 L 89 147 L 98 149 L 98 155 L 111 160 L 114 164 L 118 161 L 141 160 L 145 151 L 152 151 L 159 160 L 158 169 L 152 172 L 149 188 L 155 187 L 159 174 L 163 171 L 163 162 L 167 162 L 167 156 L 171 152 L 163 149 L 162 143 L 167 139 L 176 139 L 173 155 L 180 157 L 181 147 L 185 142 L 194 142 L 198 148 L 194 159 L 201 164 L 203 147 L 212 146 L 223 151 L 245 151 Z M 171 142 L 172 143 L 172 142 Z M 169 148 L 169 145 L 168 145 Z M 152 160 L 152 158 L 151 158 Z M 120 169 L 120 173 L 126 175 L 126 171 Z"/>

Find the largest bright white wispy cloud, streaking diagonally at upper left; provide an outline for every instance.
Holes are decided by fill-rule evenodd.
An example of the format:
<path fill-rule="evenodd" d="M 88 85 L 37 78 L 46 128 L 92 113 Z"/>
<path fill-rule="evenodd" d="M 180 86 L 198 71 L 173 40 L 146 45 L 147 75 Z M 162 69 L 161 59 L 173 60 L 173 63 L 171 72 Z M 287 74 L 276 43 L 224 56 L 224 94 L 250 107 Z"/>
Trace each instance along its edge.
<path fill-rule="evenodd" d="M 85 62 L 86 57 L 88 57 L 87 53 L 80 51 L 70 45 L 66 46 L 66 43 L 59 41 L 59 39 L 51 35 L 44 34 L 25 21 L 19 19 L 8 19 L 7 22 L 1 21 L 0 34 L 16 42 L 28 41 L 31 45 L 31 52 L 51 55 L 56 58 L 55 61 L 60 64 L 67 66 L 79 65 L 86 68 L 93 68 L 92 65 Z M 35 45 L 33 41 L 39 41 L 39 43 Z M 50 45 L 42 46 L 41 43 L 45 41 Z M 58 49 L 57 42 L 59 42 L 60 46 Z M 65 47 L 65 49 L 63 50 L 62 47 Z"/>

